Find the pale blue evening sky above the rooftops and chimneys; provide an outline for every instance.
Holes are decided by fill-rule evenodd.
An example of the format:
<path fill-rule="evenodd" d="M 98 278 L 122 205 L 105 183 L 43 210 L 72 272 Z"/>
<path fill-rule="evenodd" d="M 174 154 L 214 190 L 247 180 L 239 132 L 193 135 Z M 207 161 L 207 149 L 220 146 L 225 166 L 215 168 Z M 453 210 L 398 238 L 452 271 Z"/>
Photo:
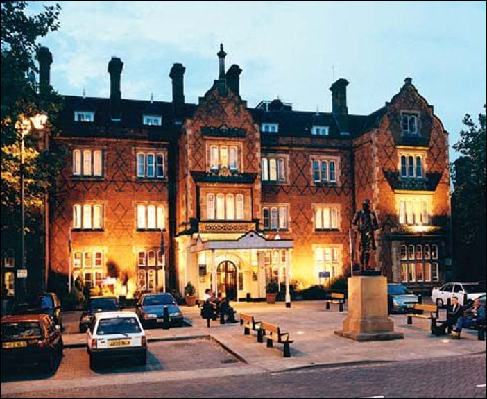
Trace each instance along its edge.
<path fill-rule="evenodd" d="M 369 114 L 410 76 L 452 146 L 465 113 L 477 119 L 486 103 L 485 1 L 58 3 L 60 29 L 40 42 L 53 53 L 60 94 L 108 96 L 108 61 L 118 56 L 123 98 L 171 101 L 169 70 L 182 62 L 185 99 L 197 103 L 218 77 L 223 42 L 250 106 L 279 97 L 294 110 L 330 112 L 328 89 L 346 78 L 349 112 Z"/>

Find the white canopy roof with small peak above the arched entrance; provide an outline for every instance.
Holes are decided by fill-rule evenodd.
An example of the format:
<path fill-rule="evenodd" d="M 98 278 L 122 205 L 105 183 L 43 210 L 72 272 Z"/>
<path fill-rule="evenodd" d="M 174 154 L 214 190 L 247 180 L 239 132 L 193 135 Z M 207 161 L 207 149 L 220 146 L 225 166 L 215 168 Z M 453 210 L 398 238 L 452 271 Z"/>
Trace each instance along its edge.
<path fill-rule="evenodd" d="M 257 232 L 251 231 L 239 239 L 222 239 L 203 241 L 200 236 L 196 244 L 191 246 L 191 253 L 207 250 L 229 250 L 229 249 L 292 249 L 292 239 L 266 239 Z"/>

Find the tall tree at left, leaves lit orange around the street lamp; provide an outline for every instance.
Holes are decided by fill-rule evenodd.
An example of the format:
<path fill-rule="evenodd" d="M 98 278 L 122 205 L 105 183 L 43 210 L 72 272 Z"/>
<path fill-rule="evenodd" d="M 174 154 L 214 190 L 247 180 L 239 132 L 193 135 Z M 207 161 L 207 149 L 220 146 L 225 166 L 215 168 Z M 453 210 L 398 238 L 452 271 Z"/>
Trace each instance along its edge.
<path fill-rule="evenodd" d="M 15 251 L 19 259 L 19 122 L 47 114 L 55 130 L 60 97 L 49 90 L 38 94 L 35 54 L 37 40 L 59 27 L 60 6 L 44 6 L 42 12 L 26 12 L 28 1 L 0 1 L 1 6 L 1 252 Z M 28 262 L 42 265 L 42 205 L 55 185 L 60 157 L 55 148 L 40 146 L 33 131 L 25 137 L 26 248 Z M 40 269 L 40 268 L 35 268 Z"/>

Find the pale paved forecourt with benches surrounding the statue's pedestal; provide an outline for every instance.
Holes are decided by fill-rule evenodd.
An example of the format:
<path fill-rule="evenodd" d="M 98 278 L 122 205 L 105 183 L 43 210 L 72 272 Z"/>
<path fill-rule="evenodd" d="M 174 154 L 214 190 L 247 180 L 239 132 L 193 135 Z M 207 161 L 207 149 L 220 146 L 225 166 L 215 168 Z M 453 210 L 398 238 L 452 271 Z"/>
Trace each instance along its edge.
<path fill-rule="evenodd" d="M 291 358 L 282 357 L 282 346 L 279 344 L 275 348 L 266 348 L 265 343 L 257 343 L 255 333 L 244 336 L 239 324 L 220 325 L 218 321 L 213 321 L 211 327 L 207 328 L 197 307 L 182 307 L 183 314 L 193 327 L 147 330 L 149 345 L 151 341 L 210 335 L 244 362 L 266 371 L 284 371 L 318 364 L 454 357 L 486 350 L 486 341 L 478 341 L 477 332 L 466 330 L 459 341 L 452 341 L 447 336 L 434 337 L 429 333 L 429 321 L 414 319 L 413 325 L 407 325 L 406 316 L 401 314 L 391 318 L 395 330 L 404 332 L 404 339 L 355 342 L 334 335 L 334 330 L 341 329 L 346 309 L 345 312 L 337 312 L 332 305 L 332 310 L 327 311 L 323 301 L 294 302 L 291 309 L 286 309 L 284 303 L 232 303 L 232 306 L 237 312 L 253 314 L 258 321 L 280 325 L 282 330 L 289 332 L 295 341 L 291 345 Z M 85 344 L 84 334 L 66 334 L 64 339 L 68 346 Z"/>

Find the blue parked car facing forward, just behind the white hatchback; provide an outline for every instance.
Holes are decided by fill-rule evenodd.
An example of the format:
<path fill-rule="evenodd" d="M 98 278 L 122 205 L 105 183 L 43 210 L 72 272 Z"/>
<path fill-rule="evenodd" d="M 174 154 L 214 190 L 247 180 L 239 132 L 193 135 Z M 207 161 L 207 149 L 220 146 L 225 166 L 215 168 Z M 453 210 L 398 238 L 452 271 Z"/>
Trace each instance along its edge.
<path fill-rule="evenodd" d="M 171 294 L 142 294 L 135 307 L 135 312 L 144 327 L 147 327 L 164 321 L 164 307 L 167 307 L 169 311 L 171 325 L 181 327 L 183 323 L 182 312 Z"/>

